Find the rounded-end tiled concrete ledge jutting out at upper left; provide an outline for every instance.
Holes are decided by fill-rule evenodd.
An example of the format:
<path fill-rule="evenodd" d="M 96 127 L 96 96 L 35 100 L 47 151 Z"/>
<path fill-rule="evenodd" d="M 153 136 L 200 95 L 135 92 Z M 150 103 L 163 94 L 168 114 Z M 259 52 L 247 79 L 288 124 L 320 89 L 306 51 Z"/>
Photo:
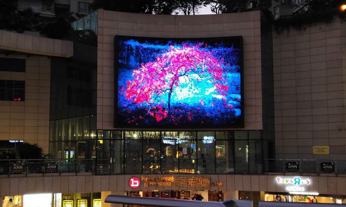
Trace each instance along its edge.
<path fill-rule="evenodd" d="M 73 56 L 73 41 L 35 37 L 0 30 L 0 49 L 46 56 Z"/>

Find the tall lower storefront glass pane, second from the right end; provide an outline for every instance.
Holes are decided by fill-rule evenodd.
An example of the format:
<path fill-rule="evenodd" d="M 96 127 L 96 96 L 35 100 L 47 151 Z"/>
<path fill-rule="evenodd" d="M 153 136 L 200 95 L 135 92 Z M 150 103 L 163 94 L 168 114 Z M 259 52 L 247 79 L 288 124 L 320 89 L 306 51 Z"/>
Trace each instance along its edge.
<path fill-rule="evenodd" d="M 249 173 L 249 144 L 248 140 L 234 141 L 235 173 Z"/>

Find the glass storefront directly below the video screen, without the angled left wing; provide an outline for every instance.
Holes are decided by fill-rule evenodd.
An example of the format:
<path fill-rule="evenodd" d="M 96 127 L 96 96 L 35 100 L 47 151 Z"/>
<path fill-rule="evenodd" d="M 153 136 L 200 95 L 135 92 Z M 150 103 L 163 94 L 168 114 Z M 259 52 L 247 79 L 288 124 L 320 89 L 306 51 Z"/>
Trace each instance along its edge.
<path fill-rule="evenodd" d="M 99 130 L 96 172 L 262 173 L 261 131 L 238 132 Z"/>

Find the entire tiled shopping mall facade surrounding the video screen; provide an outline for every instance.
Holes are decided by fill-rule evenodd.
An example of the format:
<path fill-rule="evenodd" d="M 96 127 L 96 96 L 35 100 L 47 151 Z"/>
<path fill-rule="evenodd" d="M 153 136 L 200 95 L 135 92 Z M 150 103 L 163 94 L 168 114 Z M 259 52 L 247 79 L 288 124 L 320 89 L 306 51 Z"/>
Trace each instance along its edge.
<path fill-rule="evenodd" d="M 319 203 L 344 202 L 340 20 L 277 33 L 260 11 L 179 16 L 98 10 L 85 18 L 74 27 L 97 39 L 38 41 L 23 35 L 20 41 L 22 35 L 1 31 L 1 60 L 25 59 L 24 72 L 1 72 L 6 91 L 7 84 L 17 84 L 11 81 L 25 81 L 25 96 L 0 101 L 0 139 L 39 143 L 52 156 L 43 168 L 30 168 L 30 161 L 23 170 L 18 166 L 24 164 L 6 164 L 0 195 L 12 198 L 4 202 L 13 204 L 19 196 L 25 205 L 25 195 L 39 193 L 48 193 L 56 206 L 117 206 L 103 202 L 109 194 L 176 199 L 201 194 L 208 201 L 254 200 L 255 206 L 259 200 L 302 202 L 314 196 Z M 242 40 L 241 124 L 119 125 L 121 37 Z"/>

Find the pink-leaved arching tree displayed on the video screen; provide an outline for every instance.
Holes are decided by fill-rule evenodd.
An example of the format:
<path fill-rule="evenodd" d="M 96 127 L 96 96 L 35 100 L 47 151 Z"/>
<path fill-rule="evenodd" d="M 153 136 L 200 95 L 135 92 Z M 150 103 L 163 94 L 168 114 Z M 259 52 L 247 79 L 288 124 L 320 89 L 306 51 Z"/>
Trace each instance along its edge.
<path fill-rule="evenodd" d="M 216 58 L 211 51 L 203 48 L 208 45 L 201 42 L 182 45 L 182 48 L 171 45 L 155 61 L 142 63 L 139 69 L 133 71 L 133 80 L 127 82 L 126 99 L 136 104 L 147 104 L 147 113 L 158 122 L 170 118 L 172 92 L 180 84 L 191 84 L 193 87 L 193 82 L 207 80 L 215 86 L 218 94 L 227 95 L 229 85 L 224 76 L 227 67 L 223 58 Z M 202 99 L 200 103 L 204 105 Z M 162 104 L 167 104 L 167 108 L 164 109 Z"/>

